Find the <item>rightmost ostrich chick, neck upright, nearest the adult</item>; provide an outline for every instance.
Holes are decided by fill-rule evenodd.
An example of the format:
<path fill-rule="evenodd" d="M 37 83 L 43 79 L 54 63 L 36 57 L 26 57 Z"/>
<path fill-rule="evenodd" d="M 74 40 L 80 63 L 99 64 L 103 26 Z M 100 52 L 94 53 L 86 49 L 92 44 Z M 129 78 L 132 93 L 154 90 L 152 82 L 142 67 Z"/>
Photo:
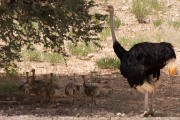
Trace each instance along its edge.
<path fill-rule="evenodd" d="M 87 85 L 85 75 L 82 75 L 82 78 L 84 80 L 83 87 L 84 87 L 84 93 L 91 97 L 91 102 L 96 104 L 96 96 L 99 95 L 99 87 L 96 85 Z"/>

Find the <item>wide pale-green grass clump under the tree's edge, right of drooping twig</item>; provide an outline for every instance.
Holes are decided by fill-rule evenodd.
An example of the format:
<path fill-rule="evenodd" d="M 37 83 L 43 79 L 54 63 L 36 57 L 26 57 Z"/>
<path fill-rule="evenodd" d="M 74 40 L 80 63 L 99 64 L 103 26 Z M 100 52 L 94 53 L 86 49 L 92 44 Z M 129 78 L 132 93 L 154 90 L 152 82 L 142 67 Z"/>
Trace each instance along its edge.
<path fill-rule="evenodd" d="M 80 42 L 78 44 L 69 43 L 68 49 L 73 55 L 87 56 L 89 53 L 94 52 L 97 49 L 97 46 L 91 42 L 88 43 Z"/>

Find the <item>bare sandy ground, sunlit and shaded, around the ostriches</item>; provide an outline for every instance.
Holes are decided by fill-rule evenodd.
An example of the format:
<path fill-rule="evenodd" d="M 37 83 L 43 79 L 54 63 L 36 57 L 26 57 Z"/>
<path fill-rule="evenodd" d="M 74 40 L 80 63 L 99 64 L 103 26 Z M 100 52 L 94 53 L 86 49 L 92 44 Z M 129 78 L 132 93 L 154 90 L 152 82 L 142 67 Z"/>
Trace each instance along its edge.
<path fill-rule="evenodd" d="M 180 33 L 172 27 L 163 24 L 160 28 L 155 28 L 152 24 L 138 24 L 136 19 L 130 14 L 129 4 L 126 0 L 108 2 L 115 5 L 116 16 L 118 16 L 124 25 L 116 31 L 119 38 L 128 36 L 134 38 L 137 34 L 151 36 L 154 39 L 157 34 L 163 35 L 163 40 L 172 42 L 177 54 L 178 69 L 180 71 Z M 166 20 L 177 18 L 180 1 L 171 0 L 171 8 L 162 14 Z M 117 12 L 119 11 L 119 12 Z M 179 14 L 180 15 L 180 14 Z M 150 18 L 150 21 L 152 19 Z M 173 38 L 173 40 L 171 40 Z M 170 39 L 170 40 L 169 40 Z M 57 76 L 57 82 L 60 86 L 59 96 L 56 102 L 38 101 L 37 96 L 26 96 L 20 92 L 0 94 L 0 120 L 31 120 L 31 119 L 140 119 L 143 113 L 144 95 L 130 88 L 127 80 L 122 77 L 119 70 L 100 70 L 95 66 L 95 60 L 105 56 L 114 56 L 111 38 L 109 37 L 102 44 L 103 48 L 93 57 L 87 60 L 70 56 L 67 60 L 68 67 L 63 63 L 51 65 L 49 63 L 35 63 L 24 61 L 19 63 L 20 73 L 30 71 L 35 68 L 38 78 L 42 75 L 53 72 Z M 65 85 L 76 75 L 76 82 L 82 85 L 81 75 L 86 75 L 88 79 L 91 71 L 96 69 L 101 74 L 101 79 L 95 82 L 100 87 L 100 95 L 97 97 L 97 104 L 90 104 L 90 99 L 83 93 L 81 86 L 80 93 L 74 105 L 64 94 Z M 22 78 L 24 79 L 24 78 Z M 180 76 L 170 77 L 166 74 L 165 69 L 161 71 L 160 77 L 162 83 L 156 90 L 154 109 L 155 117 L 152 119 L 180 119 Z M 91 81 L 92 82 L 92 81 Z M 149 118 L 151 119 L 151 117 Z"/>

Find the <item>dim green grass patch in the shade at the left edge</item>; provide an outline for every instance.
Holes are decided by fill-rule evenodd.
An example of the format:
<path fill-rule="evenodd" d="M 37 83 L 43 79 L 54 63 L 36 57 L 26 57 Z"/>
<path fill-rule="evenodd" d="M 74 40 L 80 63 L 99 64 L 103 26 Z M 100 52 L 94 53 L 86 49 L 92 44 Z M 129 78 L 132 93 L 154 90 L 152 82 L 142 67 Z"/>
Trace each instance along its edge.
<path fill-rule="evenodd" d="M 16 80 L 1 79 L 0 80 L 0 93 L 12 93 L 18 90 L 18 84 Z"/>

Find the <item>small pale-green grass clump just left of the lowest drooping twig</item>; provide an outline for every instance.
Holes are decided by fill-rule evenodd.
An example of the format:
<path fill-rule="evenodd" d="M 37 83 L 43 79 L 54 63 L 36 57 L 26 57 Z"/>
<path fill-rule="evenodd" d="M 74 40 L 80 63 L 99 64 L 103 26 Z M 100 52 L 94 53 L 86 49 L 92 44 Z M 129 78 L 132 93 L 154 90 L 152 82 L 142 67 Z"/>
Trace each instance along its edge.
<path fill-rule="evenodd" d="M 44 60 L 46 62 L 50 62 L 50 63 L 54 64 L 54 63 L 62 62 L 63 57 L 59 53 L 46 53 L 46 54 L 44 54 Z"/>

